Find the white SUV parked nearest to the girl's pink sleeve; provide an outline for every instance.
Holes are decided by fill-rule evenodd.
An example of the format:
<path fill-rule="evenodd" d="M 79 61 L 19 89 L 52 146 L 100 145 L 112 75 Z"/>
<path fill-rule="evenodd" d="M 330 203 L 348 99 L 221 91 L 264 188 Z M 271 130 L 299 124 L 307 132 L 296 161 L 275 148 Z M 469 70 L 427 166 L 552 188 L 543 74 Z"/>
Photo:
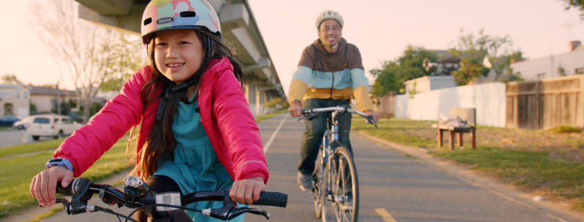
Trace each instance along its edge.
<path fill-rule="evenodd" d="M 43 114 L 34 116 L 34 120 L 26 127 L 26 133 L 32 136 L 33 140 L 39 140 L 41 136 L 62 138 L 70 135 L 81 126 L 66 115 Z"/>

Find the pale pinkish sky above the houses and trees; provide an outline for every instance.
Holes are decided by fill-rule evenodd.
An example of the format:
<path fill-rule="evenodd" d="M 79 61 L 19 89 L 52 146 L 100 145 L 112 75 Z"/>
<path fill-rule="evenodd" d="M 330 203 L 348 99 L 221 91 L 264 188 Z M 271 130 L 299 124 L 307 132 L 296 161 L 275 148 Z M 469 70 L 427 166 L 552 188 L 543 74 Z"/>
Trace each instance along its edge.
<path fill-rule="evenodd" d="M 10 1 L 0 8 L 4 21 L 0 41 L 0 75 L 14 73 L 26 84 L 61 82 L 72 89 L 66 68 L 59 68 L 35 37 L 25 19 L 28 2 Z M 323 10 L 336 10 L 344 19 L 343 37 L 361 51 L 366 75 L 384 60 L 402 55 L 408 44 L 426 49 L 451 48 L 465 33 L 509 35 L 514 48 L 529 59 L 567 53 L 569 40 L 584 41 L 579 12 L 564 10 L 560 0 L 248 0 L 288 93 L 302 50 L 317 39 L 314 24 Z M 59 74 L 61 73 L 61 74 Z"/>

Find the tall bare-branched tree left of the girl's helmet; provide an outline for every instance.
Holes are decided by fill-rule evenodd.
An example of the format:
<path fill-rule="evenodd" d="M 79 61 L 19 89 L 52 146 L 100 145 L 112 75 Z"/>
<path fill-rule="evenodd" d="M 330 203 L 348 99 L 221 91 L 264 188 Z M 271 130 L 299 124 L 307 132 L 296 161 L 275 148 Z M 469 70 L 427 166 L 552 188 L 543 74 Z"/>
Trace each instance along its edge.
<path fill-rule="evenodd" d="M 104 82 L 120 71 L 117 51 L 124 34 L 82 21 L 77 17 L 78 3 L 66 0 L 36 2 L 30 6 L 30 23 L 39 35 L 39 41 L 48 52 L 68 69 L 75 94 L 83 109 L 84 120 Z M 131 55 L 126 55 L 126 58 Z"/>

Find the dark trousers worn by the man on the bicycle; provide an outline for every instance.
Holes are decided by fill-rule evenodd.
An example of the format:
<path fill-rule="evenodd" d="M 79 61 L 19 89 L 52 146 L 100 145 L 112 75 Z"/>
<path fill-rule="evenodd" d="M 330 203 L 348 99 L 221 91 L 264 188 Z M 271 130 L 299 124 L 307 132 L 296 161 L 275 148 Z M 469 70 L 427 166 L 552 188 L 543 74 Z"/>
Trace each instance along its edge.
<path fill-rule="evenodd" d="M 322 107 L 348 106 L 349 100 L 332 99 L 308 99 L 304 101 L 303 109 L 313 109 Z M 317 117 L 312 120 L 304 120 L 306 129 L 302 136 L 300 145 L 300 161 L 298 171 L 305 175 L 310 175 L 314 171 L 314 160 L 319 154 L 319 146 L 322 144 L 322 137 L 326 131 L 326 118 L 330 113 L 315 113 Z M 344 147 L 352 154 L 351 143 L 349 141 L 349 131 L 351 129 L 351 113 L 340 114 L 339 118 L 339 140 Z"/>

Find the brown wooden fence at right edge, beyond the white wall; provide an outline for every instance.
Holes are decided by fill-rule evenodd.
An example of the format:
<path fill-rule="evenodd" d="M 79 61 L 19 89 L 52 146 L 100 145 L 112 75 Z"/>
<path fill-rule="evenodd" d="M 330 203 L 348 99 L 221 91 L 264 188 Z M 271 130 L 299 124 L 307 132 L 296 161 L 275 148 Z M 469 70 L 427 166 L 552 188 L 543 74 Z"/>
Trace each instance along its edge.
<path fill-rule="evenodd" d="M 507 127 L 584 127 L 584 75 L 509 82 L 506 97 Z"/>

